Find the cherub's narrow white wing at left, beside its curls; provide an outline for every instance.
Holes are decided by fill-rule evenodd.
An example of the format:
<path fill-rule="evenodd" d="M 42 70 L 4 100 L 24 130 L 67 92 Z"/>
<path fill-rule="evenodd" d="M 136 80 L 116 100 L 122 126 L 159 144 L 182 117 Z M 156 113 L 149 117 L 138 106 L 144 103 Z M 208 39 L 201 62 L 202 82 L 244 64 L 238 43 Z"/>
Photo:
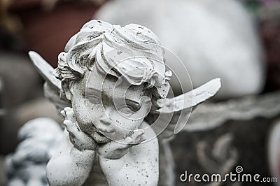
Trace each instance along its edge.
<path fill-rule="evenodd" d="M 37 52 L 29 51 L 28 54 L 38 73 L 40 73 L 40 75 L 45 80 L 45 97 L 55 104 L 57 112 L 59 113 L 66 106 L 71 107 L 70 101 L 62 99 L 62 83 L 61 80 L 58 80 L 53 74 L 55 70 L 52 68 L 52 66 L 50 66 L 50 64 L 48 64 L 48 62 L 46 62 L 45 59 L 43 59 L 43 57 L 41 57 L 41 55 L 39 55 Z"/>

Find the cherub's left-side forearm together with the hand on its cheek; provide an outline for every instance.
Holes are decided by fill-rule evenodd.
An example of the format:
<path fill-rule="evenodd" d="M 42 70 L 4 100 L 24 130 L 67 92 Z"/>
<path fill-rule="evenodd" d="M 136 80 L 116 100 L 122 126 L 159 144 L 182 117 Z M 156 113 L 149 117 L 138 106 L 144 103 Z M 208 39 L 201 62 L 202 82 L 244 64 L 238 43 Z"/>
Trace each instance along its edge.
<path fill-rule="evenodd" d="M 62 110 L 66 129 L 61 143 L 47 165 L 47 178 L 52 185 L 83 185 L 92 170 L 96 144 L 78 128 L 73 109 Z"/>

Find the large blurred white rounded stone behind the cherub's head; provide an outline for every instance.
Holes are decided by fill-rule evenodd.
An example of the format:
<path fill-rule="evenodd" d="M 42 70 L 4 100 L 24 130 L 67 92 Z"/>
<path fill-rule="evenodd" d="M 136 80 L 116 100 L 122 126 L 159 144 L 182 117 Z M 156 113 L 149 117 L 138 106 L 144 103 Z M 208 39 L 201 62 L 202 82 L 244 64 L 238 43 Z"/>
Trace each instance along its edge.
<path fill-rule="evenodd" d="M 94 18 L 152 29 L 188 69 L 193 86 L 221 78 L 218 98 L 258 94 L 264 85 L 262 50 L 249 13 L 235 0 L 108 1 Z M 178 79 L 188 76 L 167 56 Z M 171 80 L 175 92 L 180 86 Z M 191 85 L 186 85 L 191 89 Z"/>

